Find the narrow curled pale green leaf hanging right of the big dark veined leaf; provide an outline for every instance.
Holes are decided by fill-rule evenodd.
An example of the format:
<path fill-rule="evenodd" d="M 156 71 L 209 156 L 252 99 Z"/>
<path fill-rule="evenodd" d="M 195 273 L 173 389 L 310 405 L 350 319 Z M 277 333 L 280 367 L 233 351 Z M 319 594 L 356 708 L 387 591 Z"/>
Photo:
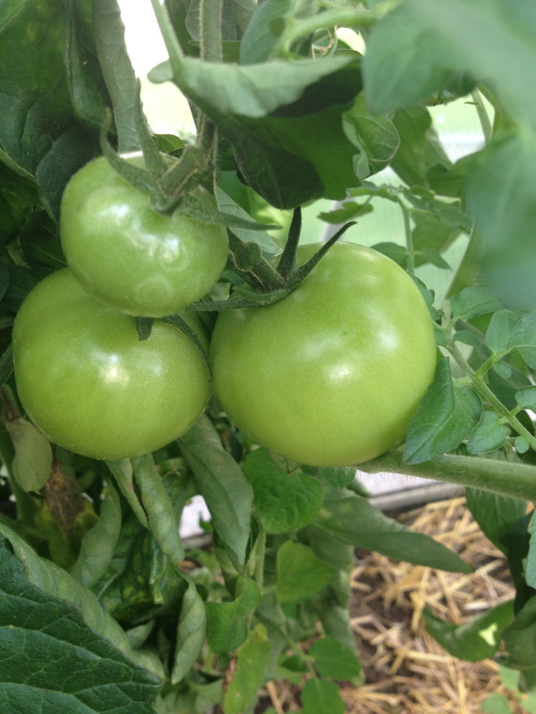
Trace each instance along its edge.
<path fill-rule="evenodd" d="M 204 600 L 197 592 L 192 578 L 183 575 L 188 583 L 182 598 L 179 623 L 177 624 L 177 645 L 172 667 L 172 684 L 179 683 L 192 669 L 199 657 L 207 629 L 207 611 Z"/>

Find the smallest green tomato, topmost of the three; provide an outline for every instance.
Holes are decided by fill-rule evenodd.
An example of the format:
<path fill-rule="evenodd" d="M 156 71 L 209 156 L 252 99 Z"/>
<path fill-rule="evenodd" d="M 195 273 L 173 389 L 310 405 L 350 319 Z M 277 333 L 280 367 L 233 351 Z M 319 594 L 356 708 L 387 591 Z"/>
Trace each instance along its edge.
<path fill-rule="evenodd" d="M 195 193 L 202 204 L 216 207 L 204 188 Z M 145 193 L 121 178 L 104 156 L 67 184 L 60 235 L 84 290 L 117 310 L 149 317 L 177 313 L 208 293 L 229 247 L 223 226 L 194 221 L 180 208 L 170 216 L 153 211 Z"/>

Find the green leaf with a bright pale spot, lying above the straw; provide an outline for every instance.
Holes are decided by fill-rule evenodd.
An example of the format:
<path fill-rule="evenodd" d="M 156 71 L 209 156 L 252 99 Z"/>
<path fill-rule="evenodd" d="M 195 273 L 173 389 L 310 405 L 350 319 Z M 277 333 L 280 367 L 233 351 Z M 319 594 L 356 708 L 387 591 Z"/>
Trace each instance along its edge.
<path fill-rule="evenodd" d="M 501 603 L 463 625 L 445 623 L 423 610 L 427 630 L 447 652 L 469 662 L 492 657 L 501 643 L 502 631 L 512 623 L 512 601 Z"/>

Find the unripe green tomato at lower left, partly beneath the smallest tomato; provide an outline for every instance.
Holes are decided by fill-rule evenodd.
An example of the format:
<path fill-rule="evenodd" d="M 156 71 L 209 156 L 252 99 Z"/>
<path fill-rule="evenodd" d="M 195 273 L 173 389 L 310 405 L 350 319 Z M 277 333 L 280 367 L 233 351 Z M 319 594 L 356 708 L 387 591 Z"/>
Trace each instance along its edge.
<path fill-rule="evenodd" d="M 184 318 L 206 342 L 197 316 Z M 51 441 L 92 458 L 165 446 L 192 426 L 211 393 L 202 356 L 184 333 L 155 321 L 139 341 L 134 318 L 91 298 L 68 268 L 26 297 L 13 355 L 26 413 Z"/>

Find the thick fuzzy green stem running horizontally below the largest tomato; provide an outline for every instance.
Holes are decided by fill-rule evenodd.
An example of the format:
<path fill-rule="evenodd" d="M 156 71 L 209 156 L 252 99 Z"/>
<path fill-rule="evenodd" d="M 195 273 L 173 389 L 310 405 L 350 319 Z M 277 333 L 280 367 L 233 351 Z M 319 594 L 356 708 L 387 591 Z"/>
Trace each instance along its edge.
<path fill-rule="evenodd" d="M 401 451 L 387 451 L 372 461 L 359 464 L 359 469 L 365 473 L 401 473 L 458 483 L 526 501 L 536 499 L 536 467 L 525 463 L 451 455 L 422 463 L 406 463 Z"/>

